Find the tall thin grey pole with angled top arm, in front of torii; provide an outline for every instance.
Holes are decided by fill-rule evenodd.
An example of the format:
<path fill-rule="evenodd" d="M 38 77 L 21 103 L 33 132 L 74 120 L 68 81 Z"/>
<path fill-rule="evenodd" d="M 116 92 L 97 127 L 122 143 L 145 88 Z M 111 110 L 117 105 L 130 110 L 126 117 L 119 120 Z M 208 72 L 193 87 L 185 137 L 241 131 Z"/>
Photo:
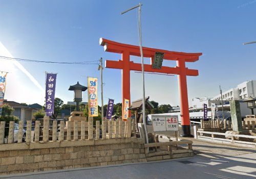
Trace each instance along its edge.
<path fill-rule="evenodd" d="M 138 18 L 138 23 L 139 23 L 139 43 L 140 43 L 140 58 L 141 58 L 141 74 L 142 74 L 142 119 L 143 119 L 143 124 L 145 128 L 145 133 L 146 133 L 146 142 L 148 143 L 148 136 L 147 136 L 147 128 L 146 128 L 146 113 L 145 113 L 145 83 L 144 83 L 144 59 L 143 59 L 143 50 L 142 50 L 142 35 L 141 35 L 141 6 L 142 4 L 139 3 L 139 5 L 127 9 L 126 11 L 122 12 L 121 14 L 124 14 L 128 11 L 131 11 L 135 8 L 139 8 L 139 18 Z"/>

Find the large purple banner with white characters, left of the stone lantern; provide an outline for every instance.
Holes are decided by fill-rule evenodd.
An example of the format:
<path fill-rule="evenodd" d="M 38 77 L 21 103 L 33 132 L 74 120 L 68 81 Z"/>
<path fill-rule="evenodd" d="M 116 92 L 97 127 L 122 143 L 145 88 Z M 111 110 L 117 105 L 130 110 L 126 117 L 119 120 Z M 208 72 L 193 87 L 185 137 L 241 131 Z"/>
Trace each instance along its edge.
<path fill-rule="evenodd" d="M 55 98 L 55 86 L 56 86 L 55 73 L 46 74 L 46 115 L 52 116 L 54 113 L 54 98 Z"/>

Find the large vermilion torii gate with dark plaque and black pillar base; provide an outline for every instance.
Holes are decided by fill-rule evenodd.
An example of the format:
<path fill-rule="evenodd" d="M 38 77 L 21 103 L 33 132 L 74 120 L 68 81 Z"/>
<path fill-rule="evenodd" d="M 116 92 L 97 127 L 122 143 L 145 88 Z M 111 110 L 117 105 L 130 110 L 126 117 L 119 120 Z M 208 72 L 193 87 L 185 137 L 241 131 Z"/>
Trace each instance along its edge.
<path fill-rule="evenodd" d="M 130 94 L 130 71 L 141 71 L 141 64 L 130 61 L 130 55 L 140 57 L 140 47 L 136 45 L 118 43 L 115 41 L 100 38 L 99 43 L 104 46 L 105 52 L 112 52 L 122 54 L 122 60 L 118 61 L 105 61 L 106 68 L 116 68 L 122 70 L 122 108 L 124 106 L 124 98 L 129 99 L 131 103 Z M 162 66 L 161 69 L 152 68 L 154 56 L 156 52 L 164 53 L 165 60 L 176 60 L 176 67 Z M 197 76 L 198 70 L 188 69 L 185 66 L 185 62 L 196 62 L 202 53 L 183 53 L 172 52 L 163 49 L 143 47 L 143 56 L 151 58 L 151 65 L 144 64 L 144 71 L 158 72 L 167 74 L 177 74 L 180 91 L 180 114 L 183 137 L 189 137 L 190 134 L 190 119 L 188 110 L 188 98 L 187 98 L 187 79 L 186 76 Z M 130 106 L 131 104 L 129 104 Z M 131 111 L 129 112 L 131 117 Z"/>

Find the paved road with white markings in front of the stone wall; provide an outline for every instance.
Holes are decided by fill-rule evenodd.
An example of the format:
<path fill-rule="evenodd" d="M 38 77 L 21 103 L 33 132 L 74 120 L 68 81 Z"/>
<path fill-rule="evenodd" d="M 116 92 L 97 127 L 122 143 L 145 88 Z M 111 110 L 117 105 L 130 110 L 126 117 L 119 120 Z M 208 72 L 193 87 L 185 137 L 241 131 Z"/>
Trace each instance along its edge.
<path fill-rule="evenodd" d="M 108 167 L 79 168 L 0 176 L 16 179 L 80 178 L 256 178 L 256 150 L 194 141 L 193 158 Z"/>

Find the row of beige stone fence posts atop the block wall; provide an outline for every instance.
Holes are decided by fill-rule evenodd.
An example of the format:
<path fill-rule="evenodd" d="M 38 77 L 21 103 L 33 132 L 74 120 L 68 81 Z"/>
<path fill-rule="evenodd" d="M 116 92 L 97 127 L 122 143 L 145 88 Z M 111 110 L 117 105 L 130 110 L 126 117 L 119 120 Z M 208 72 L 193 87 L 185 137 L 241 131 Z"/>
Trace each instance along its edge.
<path fill-rule="evenodd" d="M 79 123 L 79 125 L 78 125 Z M 73 124 L 73 125 L 72 125 Z M 32 126 L 31 121 L 27 121 L 26 139 L 23 138 L 24 122 L 19 121 L 17 143 L 22 142 L 49 142 L 49 141 L 70 141 L 70 140 L 92 140 L 92 139 L 111 139 L 111 138 L 130 138 L 135 121 L 128 118 L 127 121 L 122 120 L 104 120 L 102 124 L 96 121 L 93 126 L 93 117 L 89 117 L 89 121 L 57 121 L 53 120 L 52 126 L 49 125 L 49 119 L 44 119 L 44 125 L 40 126 L 40 121 L 35 121 Z M 32 131 L 32 127 L 34 131 Z M 4 143 L 6 122 L 0 123 L 0 144 Z M 14 121 L 9 123 L 8 143 L 14 141 Z"/>

